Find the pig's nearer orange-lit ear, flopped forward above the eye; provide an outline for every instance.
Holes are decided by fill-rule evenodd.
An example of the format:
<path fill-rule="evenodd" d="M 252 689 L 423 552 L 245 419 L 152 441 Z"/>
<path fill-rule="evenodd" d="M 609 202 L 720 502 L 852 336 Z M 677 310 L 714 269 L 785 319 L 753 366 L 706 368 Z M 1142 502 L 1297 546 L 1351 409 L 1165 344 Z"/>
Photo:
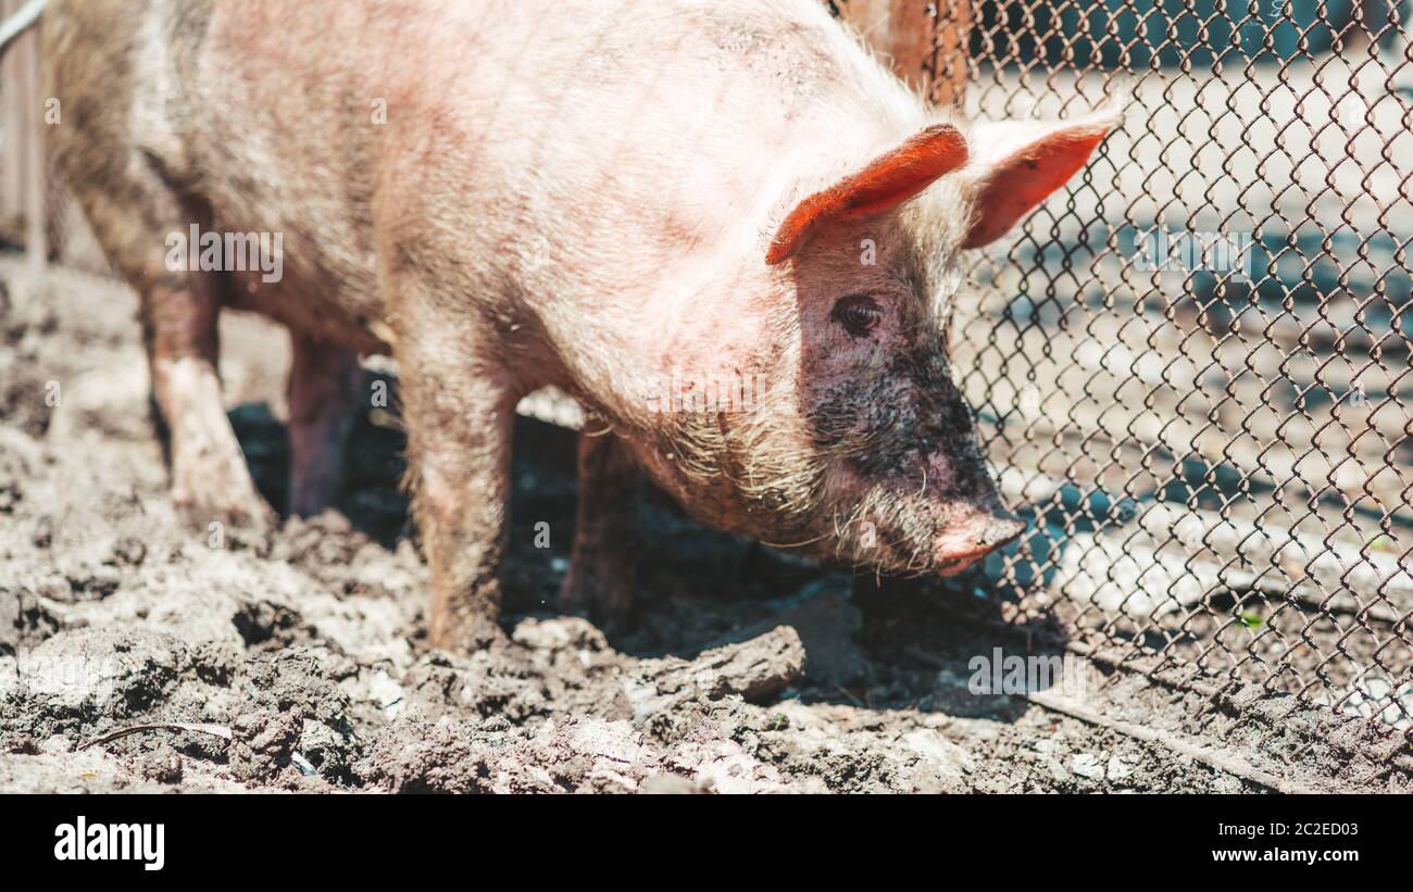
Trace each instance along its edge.
<path fill-rule="evenodd" d="M 777 264 L 804 246 L 821 224 L 858 220 L 897 207 L 944 174 L 966 164 L 966 138 L 951 124 L 934 124 L 858 174 L 800 202 L 770 241 L 766 263 Z"/>

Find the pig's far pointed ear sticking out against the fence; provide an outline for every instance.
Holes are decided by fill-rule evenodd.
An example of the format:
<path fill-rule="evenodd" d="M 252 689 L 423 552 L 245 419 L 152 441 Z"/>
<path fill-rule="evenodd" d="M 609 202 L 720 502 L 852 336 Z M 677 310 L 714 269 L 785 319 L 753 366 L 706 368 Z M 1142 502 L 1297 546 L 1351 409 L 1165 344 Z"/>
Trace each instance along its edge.
<path fill-rule="evenodd" d="M 965 176 L 974 215 L 964 248 L 1005 236 L 1089 159 L 1118 124 L 1112 112 L 1077 121 L 995 121 L 972 134 L 976 157 Z"/>

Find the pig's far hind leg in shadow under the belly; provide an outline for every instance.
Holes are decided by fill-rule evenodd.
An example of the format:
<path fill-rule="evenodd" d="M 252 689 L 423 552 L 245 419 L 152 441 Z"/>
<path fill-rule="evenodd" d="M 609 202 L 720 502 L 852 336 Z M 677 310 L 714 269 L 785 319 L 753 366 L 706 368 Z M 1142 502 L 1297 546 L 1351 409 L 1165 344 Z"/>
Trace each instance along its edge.
<path fill-rule="evenodd" d="M 318 514 L 343 480 L 363 370 L 357 350 L 290 332 L 290 514 Z"/>

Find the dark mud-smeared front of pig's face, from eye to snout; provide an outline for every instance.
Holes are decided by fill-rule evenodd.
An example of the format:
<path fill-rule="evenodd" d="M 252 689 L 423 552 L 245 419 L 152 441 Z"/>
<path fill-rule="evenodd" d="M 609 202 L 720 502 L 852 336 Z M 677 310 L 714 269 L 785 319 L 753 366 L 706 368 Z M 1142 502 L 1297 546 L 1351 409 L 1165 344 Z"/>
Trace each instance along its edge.
<path fill-rule="evenodd" d="M 825 467 L 817 515 L 835 556 L 945 572 L 938 541 L 995 507 L 996 495 L 950 364 L 950 299 L 920 251 L 896 247 L 897 234 L 879 236 L 880 246 L 892 236 L 893 253 L 880 251 L 877 268 L 835 260 L 824 272 L 797 271 L 800 409 L 808 449 Z M 866 333 L 828 315 L 853 294 L 882 311 Z"/>

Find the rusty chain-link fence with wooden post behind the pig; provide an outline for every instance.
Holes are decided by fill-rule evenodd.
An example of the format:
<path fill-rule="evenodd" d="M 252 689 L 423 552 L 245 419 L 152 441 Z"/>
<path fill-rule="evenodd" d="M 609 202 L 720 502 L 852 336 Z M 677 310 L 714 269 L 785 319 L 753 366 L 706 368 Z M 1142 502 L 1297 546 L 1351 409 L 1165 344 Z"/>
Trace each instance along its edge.
<path fill-rule="evenodd" d="M 955 368 L 1031 521 L 992 556 L 991 597 L 1113 663 L 1413 734 L 1407 8 L 825 1 L 937 103 L 1128 100 L 1089 168 L 971 270 Z M 10 147 L 40 126 L 16 117 L 17 64 Z M 40 185 L 7 176 L 0 206 L 41 189 L 51 257 L 105 270 L 28 169 Z"/>

